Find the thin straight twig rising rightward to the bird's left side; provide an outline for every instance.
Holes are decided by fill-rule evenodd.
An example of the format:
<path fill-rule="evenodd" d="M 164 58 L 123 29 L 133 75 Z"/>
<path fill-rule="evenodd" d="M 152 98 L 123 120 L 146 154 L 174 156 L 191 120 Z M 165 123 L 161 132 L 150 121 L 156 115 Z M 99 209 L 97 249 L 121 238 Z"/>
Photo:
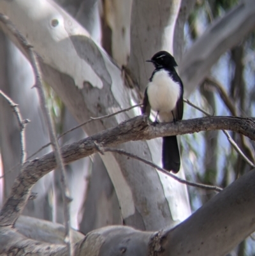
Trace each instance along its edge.
<path fill-rule="evenodd" d="M 87 120 L 87 121 L 85 121 L 84 123 L 79 124 L 79 125 L 77 125 L 77 126 L 71 128 L 70 130 L 68 130 L 68 131 L 66 131 L 66 132 L 64 132 L 64 133 L 62 133 L 61 135 L 59 135 L 59 137 L 57 137 L 57 139 L 58 139 L 58 140 L 61 139 L 61 137 L 63 137 L 63 136 L 66 135 L 67 133 L 73 132 L 74 130 L 76 130 L 76 129 L 82 127 L 82 126 L 84 126 L 85 124 L 91 123 L 92 121 L 100 120 L 100 119 L 105 119 L 105 118 L 108 118 L 108 117 L 111 117 L 111 116 L 115 116 L 115 115 L 117 115 L 117 114 L 120 114 L 120 113 L 122 113 L 122 112 L 126 112 L 126 111 L 131 110 L 131 109 L 135 109 L 135 107 L 140 107 L 140 106 L 142 106 L 142 103 L 133 105 L 133 106 L 128 107 L 128 108 L 126 108 L 126 109 L 119 110 L 119 111 L 117 111 L 117 112 L 114 112 L 114 113 L 112 113 L 112 114 L 108 114 L 108 115 L 106 115 L 106 116 L 90 117 L 90 119 Z M 33 158 L 33 156 L 35 156 L 36 154 L 38 154 L 41 150 L 45 149 L 45 147 L 50 146 L 50 144 L 51 144 L 50 142 L 49 142 L 48 144 L 45 144 L 45 145 L 42 146 L 40 149 L 38 149 L 38 151 L 36 151 L 36 152 L 34 152 L 33 154 L 31 154 L 31 156 L 29 156 L 27 159 Z M 1 178 L 1 177 L 0 177 L 0 178 Z"/>

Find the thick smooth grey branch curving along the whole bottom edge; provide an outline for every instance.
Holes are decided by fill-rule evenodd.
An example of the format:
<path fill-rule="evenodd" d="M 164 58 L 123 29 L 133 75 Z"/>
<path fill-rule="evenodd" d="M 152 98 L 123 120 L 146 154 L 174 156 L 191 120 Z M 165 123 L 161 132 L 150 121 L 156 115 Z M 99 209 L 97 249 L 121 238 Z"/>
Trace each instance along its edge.
<path fill-rule="evenodd" d="M 111 226 L 87 234 L 75 245 L 76 255 L 226 255 L 255 230 L 255 171 L 240 177 L 174 229 L 141 232 L 131 227 Z M 62 245 L 25 239 L 14 229 L 0 230 L 0 253 L 22 248 L 31 255 L 67 255 Z M 10 243 L 4 243 L 7 239 Z M 21 254 L 16 254 L 21 255 Z M 129 255 L 129 254 L 128 254 Z"/>

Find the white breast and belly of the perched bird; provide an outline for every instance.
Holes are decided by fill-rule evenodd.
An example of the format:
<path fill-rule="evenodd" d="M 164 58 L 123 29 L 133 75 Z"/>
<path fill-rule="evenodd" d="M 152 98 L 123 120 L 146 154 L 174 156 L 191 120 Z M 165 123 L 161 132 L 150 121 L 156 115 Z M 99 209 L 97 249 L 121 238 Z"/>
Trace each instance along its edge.
<path fill-rule="evenodd" d="M 159 117 L 171 116 L 171 111 L 180 98 L 180 85 L 171 79 L 168 72 L 159 70 L 154 74 L 152 82 L 149 82 L 147 94 L 150 107 L 159 112 Z"/>

